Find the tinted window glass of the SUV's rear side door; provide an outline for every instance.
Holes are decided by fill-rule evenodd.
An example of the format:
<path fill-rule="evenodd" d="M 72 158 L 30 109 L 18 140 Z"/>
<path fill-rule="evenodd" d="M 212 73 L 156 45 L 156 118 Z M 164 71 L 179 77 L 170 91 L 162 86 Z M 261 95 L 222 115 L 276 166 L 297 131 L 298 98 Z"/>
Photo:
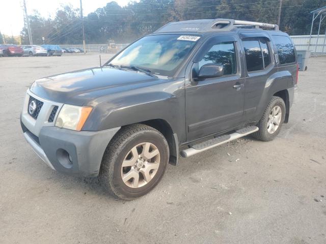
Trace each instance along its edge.
<path fill-rule="evenodd" d="M 263 70 L 270 65 L 268 41 L 265 38 L 243 40 L 248 72 Z"/>

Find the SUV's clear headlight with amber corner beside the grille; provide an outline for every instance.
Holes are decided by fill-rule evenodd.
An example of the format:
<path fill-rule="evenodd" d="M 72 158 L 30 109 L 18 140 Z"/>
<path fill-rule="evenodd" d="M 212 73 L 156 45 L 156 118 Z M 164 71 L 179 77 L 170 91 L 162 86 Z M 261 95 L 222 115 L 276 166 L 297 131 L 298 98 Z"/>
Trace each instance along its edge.
<path fill-rule="evenodd" d="M 79 107 L 64 104 L 56 120 L 56 126 L 74 131 L 81 131 L 92 107 Z"/>

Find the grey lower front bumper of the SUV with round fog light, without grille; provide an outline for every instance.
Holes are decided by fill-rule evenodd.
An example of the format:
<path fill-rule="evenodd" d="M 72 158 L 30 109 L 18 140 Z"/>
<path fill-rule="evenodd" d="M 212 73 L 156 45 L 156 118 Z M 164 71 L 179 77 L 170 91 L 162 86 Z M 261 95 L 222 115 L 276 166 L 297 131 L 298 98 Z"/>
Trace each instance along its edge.
<path fill-rule="evenodd" d="M 21 123 L 24 137 L 49 167 L 62 173 L 97 176 L 107 144 L 120 129 L 72 131 L 43 127 L 39 137 Z"/>

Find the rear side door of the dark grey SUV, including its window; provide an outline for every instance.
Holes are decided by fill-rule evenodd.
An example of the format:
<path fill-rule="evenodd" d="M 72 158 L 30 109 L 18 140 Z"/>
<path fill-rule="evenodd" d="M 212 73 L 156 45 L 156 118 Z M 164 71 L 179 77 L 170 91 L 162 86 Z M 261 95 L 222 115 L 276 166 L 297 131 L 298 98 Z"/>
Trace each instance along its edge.
<path fill-rule="evenodd" d="M 244 122 L 247 123 L 257 120 L 257 116 L 260 116 L 259 106 L 265 86 L 268 86 L 268 78 L 277 72 L 277 66 L 273 46 L 266 34 L 243 35 L 241 46 L 244 51 L 243 63 L 246 66 L 246 96 L 243 112 Z"/>

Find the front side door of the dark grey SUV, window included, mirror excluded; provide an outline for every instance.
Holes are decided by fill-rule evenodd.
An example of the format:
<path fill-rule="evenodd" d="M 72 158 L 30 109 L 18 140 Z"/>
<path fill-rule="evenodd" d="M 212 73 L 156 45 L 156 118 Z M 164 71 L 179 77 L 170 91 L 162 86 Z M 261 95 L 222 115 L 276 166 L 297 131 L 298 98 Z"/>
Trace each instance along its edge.
<path fill-rule="evenodd" d="M 235 36 L 208 39 L 195 55 L 188 73 L 199 74 L 205 64 L 223 66 L 220 77 L 189 78 L 185 86 L 187 141 L 239 126 L 243 120 L 244 77 L 241 74 L 240 46 Z"/>

